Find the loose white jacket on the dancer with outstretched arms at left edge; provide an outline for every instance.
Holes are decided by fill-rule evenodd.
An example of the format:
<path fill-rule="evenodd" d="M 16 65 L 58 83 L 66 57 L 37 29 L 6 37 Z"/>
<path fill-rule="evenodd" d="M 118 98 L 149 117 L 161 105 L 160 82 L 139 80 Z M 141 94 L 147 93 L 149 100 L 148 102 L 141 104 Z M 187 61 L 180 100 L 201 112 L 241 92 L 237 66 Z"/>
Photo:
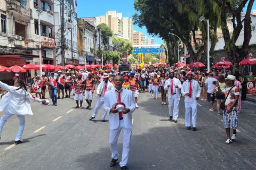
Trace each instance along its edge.
<path fill-rule="evenodd" d="M 30 101 L 34 100 L 40 103 L 42 100 L 29 94 L 25 89 L 18 87 L 8 86 L 0 81 L 0 87 L 5 89 L 5 94 L 0 101 L 0 112 L 9 112 L 15 115 L 33 115 L 31 111 Z"/>

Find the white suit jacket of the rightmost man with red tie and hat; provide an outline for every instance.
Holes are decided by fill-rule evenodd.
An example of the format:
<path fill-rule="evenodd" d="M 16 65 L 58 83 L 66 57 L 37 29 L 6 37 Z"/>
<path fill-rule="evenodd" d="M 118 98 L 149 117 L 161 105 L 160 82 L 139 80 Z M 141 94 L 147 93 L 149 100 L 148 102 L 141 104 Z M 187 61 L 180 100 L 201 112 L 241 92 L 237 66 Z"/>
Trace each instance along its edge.
<path fill-rule="evenodd" d="M 183 82 L 182 87 L 181 87 L 181 94 L 185 96 L 185 102 L 190 102 L 190 101 L 197 101 L 196 97 L 200 97 L 201 89 L 199 86 L 199 83 L 195 81 L 194 79 L 191 80 L 191 86 L 192 86 L 192 97 L 190 98 L 189 96 L 185 96 L 185 94 L 189 93 L 189 81 L 186 80 Z"/>

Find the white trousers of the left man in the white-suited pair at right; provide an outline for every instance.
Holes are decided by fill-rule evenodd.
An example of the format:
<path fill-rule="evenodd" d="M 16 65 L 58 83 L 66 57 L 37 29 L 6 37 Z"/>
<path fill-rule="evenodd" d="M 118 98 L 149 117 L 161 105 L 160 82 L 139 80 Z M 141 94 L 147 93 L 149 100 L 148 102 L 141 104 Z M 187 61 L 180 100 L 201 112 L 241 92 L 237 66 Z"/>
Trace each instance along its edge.
<path fill-rule="evenodd" d="M 173 116 L 173 120 L 177 120 L 179 116 L 180 97 L 176 97 L 176 95 L 171 95 L 171 97 L 168 98 L 169 115 Z"/>

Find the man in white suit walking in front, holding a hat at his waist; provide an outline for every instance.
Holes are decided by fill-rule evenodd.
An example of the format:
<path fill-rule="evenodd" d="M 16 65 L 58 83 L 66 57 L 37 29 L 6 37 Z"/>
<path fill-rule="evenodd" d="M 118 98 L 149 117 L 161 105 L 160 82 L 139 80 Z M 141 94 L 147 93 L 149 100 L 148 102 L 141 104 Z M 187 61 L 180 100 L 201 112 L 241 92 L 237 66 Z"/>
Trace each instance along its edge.
<path fill-rule="evenodd" d="M 119 163 L 119 165 L 121 166 L 122 170 L 127 170 L 128 168 L 126 167 L 126 164 L 129 158 L 132 135 L 132 113 L 136 106 L 132 91 L 122 88 L 123 82 L 124 79 L 121 75 L 117 75 L 117 77 L 114 78 L 115 88 L 106 92 L 104 109 L 109 115 L 109 147 L 112 157 L 110 166 L 115 166 L 119 158 L 117 140 L 119 133 L 122 130 L 123 153 L 122 161 Z M 112 107 L 117 102 L 122 102 L 125 104 L 125 108 L 123 108 L 122 112 L 118 113 L 117 109 Z"/>

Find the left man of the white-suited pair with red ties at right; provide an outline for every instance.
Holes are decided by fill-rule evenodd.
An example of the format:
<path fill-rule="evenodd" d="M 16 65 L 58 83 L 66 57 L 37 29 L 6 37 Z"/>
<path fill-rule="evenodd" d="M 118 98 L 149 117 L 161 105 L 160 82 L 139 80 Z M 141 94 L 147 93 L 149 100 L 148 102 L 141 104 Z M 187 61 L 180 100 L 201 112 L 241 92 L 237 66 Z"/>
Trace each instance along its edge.
<path fill-rule="evenodd" d="M 169 71 L 169 77 L 170 78 L 165 81 L 164 90 L 168 91 L 170 120 L 173 118 L 173 121 L 177 123 L 179 116 L 180 89 L 182 85 L 179 79 L 174 78 L 174 70 Z"/>

